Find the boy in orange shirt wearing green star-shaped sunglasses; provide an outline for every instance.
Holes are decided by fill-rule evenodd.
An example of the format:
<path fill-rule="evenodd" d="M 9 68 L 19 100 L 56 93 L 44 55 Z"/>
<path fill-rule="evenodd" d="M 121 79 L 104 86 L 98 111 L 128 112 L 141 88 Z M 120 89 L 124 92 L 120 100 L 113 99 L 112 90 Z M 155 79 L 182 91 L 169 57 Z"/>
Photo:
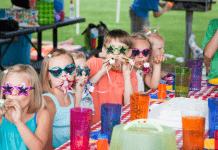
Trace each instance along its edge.
<path fill-rule="evenodd" d="M 95 107 L 93 123 L 101 120 L 102 103 L 127 105 L 130 94 L 138 92 L 135 71 L 130 63 L 124 61 L 131 56 L 131 45 L 131 37 L 126 31 L 111 30 L 105 35 L 102 47 L 106 59 L 91 58 L 87 61 L 91 70 L 89 81 L 95 84 L 91 93 Z"/>

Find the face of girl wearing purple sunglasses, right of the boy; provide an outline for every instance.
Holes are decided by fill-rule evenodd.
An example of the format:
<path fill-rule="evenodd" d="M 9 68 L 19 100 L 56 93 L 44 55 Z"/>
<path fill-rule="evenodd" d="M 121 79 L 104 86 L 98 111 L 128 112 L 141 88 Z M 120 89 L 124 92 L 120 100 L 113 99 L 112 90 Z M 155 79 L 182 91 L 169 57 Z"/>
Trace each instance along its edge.
<path fill-rule="evenodd" d="M 133 49 L 139 49 L 140 51 L 144 49 L 150 49 L 150 45 L 146 40 L 134 39 L 133 40 Z M 145 57 L 142 53 L 135 57 L 135 67 L 141 68 L 144 62 L 148 62 L 149 55 Z"/>

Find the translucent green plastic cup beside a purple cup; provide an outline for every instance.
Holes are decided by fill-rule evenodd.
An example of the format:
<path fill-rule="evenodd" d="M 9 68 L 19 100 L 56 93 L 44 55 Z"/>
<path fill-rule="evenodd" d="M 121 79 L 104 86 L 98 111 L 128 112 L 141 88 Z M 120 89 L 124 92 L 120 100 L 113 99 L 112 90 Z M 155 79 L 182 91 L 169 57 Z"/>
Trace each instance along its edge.
<path fill-rule="evenodd" d="M 176 67 L 175 97 L 188 97 L 191 78 L 191 68 Z"/>

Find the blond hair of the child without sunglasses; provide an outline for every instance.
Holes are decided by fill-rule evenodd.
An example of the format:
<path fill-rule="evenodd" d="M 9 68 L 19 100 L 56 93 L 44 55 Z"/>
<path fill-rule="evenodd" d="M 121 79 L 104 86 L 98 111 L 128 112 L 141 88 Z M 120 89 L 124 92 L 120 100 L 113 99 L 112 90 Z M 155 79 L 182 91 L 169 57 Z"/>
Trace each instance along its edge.
<path fill-rule="evenodd" d="M 159 34 L 158 29 L 159 29 L 159 28 L 156 28 L 155 32 L 152 33 L 149 26 L 144 27 L 143 32 L 144 32 L 144 35 L 145 35 L 145 36 L 148 38 L 148 40 L 150 41 L 150 43 L 151 43 L 151 48 L 152 48 L 152 46 L 154 45 L 154 40 L 160 39 L 160 40 L 165 41 L 164 37 Z"/>

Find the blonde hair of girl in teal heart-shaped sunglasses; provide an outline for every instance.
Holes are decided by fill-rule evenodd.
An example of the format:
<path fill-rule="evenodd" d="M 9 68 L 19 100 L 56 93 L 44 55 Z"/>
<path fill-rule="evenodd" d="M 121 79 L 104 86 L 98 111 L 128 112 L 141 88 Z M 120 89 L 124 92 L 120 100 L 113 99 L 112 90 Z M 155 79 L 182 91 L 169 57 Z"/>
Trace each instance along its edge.
<path fill-rule="evenodd" d="M 52 90 L 50 81 L 48 80 L 49 61 L 51 58 L 57 57 L 60 55 L 68 55 L 72 59 L 72 63 L 75 64 L 73 56 L 70 54 L 69 51 L 66 51 L 64 49 L 55 49 L 55 50 L 50 51 L 43 59 L 42 68 L 40 72 L 40 80 L 42 83 L 43 93 L 47 93 L 47 92 L 51 93 L 51 90 Z"/>

